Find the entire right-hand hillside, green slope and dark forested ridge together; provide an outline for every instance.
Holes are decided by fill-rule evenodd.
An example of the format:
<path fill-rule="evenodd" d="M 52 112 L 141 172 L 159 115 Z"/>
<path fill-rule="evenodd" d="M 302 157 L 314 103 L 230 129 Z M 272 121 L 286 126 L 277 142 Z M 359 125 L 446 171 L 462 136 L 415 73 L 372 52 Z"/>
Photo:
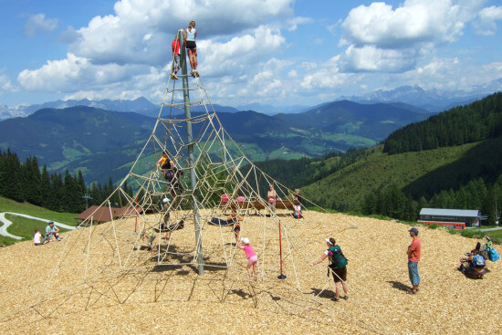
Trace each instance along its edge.
<path fill-rule="evenodd" d="M 501 106 L 502 94 L 494 94 L 448 110 L 395 131 L 384 145 L 361 149 L 351 160 L 341 154 L 284 162 L 282 172 L 267 163 L 263 169 L 302 185 L 306 197 L 326 208 L 410 220 L 424 206 L 472 208 L 495 222 L 502 208 Z M 307 171 L 291 170 L 298 163 Z"/>

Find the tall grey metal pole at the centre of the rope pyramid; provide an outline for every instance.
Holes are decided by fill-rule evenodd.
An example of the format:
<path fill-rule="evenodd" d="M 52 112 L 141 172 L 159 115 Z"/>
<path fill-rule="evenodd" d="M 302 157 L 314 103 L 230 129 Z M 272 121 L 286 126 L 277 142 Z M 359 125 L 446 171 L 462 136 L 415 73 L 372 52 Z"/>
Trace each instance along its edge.
<path fill-rule="evenodd" d="M 199 217 L 199 205 L 197 204 L 197 194 L 195 187 L 197 185 L 197 176 L 195 175 L 195 166 L 193 159 L 193 133 L 192 133 L 192 114 L 190 112 L 190 96 L 188 92 L 188 77 L 186 70 L 186 50 L 183 41 L 183 29 L 178 31 L 180 41 L 180 66 L 182 68 L 183 79 L 183 102 L 184 118 L 186 120 L 186 141 L 188 142 L 188 165 L 190 167 L 190 182 L 192 184 L 193 200 L 193 222 L 195 224 L 195 247 L 197 253 L 197 262 L 199 264 L 199 276 L 204 275 L 203 241 L 201 235 L 201 224 Z"/>

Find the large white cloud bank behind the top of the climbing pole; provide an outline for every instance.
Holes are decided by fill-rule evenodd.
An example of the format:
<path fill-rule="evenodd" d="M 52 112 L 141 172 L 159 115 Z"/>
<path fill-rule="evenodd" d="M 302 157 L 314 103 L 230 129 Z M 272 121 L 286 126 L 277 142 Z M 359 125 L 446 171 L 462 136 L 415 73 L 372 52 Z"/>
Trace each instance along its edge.
<path fill-rule="evenodd" d="M 96 16 L 88 26 L 68 27 L 59 35 L 71 43 L 67 58 L 25 69 L 17 79 L 25 89 L 68 92 L 68 97 L 84 98 L 89 94 L 104 98 L 104 94 L 117 97 L 134 92 L 159 98 L 159 87 L 167 81 L 171 65 L 173 37 L 179 28 L 197 18 L 199 70 L 204 77 L 228 76 L 233 83 L 248 87 L 246 80 L 262 70 L 263 60 L 286 45 L 277 28 L 279 22 L 309 22 L 307 18 L 293 17 L 293 3 L 118 1 L 114 15 Z"/>

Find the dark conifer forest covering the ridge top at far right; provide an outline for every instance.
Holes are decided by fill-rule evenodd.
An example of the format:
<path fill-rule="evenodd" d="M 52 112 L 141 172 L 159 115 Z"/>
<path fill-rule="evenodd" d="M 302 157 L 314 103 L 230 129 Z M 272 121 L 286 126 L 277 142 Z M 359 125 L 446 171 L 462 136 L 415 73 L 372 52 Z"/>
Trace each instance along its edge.
<path fill-rule="evenodd" d="M 502 93 L 434 115 L 392 132 L 383 152 L 420 152 L 502 135 Z"/>

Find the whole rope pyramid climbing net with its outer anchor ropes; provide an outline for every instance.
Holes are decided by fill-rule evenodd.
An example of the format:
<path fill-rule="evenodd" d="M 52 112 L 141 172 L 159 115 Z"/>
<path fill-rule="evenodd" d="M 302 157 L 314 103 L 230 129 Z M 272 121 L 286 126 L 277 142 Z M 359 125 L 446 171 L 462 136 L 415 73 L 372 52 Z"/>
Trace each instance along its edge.
<path fill-rule="evenodd" d="M 152 134 L 130 173 L 81 229 L 68 233 L 53 270 L 29 284 L 33 297 L 13 299 L 12 306 L 29 306 L 47 318 L 63 305 L 87 310 L 127 301 L 225 302 L 241 295 L 255 307 L 267 298 L 281 300 L 277 311 L 331 315 L 306 293 L 305 265 L 317 252 L 295 232 L 305 229 L 308 213 L 293 217 L 294 192 L 257 168 L 225 131 L 202 77 L 187 72 L 183 31 L 178 34 L 182 74 L 168 80 Z M 275 203 L 265 196 L 270 185 Z M 114 195 L 120 206 L 112 205 Z M 110 221 L 99 224 L 103 213 Z M 256 279 L 248 276 L 237 248 L 243 236 L 258 256 Z M 287 280 L 281 280 L 283 269 Z M 40 298 L 54 282 L 58 295 Z M 386 325 L 342 317 L 366 330 L 392 332 Z"/>

